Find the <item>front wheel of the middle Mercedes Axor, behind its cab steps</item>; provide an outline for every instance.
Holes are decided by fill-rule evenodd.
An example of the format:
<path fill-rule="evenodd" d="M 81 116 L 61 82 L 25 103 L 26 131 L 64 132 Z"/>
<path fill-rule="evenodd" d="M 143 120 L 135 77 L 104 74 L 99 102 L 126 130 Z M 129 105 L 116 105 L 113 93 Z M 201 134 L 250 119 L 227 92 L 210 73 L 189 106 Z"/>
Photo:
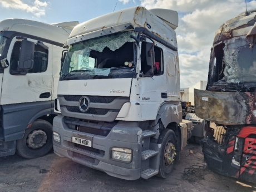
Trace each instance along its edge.
<path fill-rule="evenodd" d="M 176 136 L 173 130 L 165 129 L 159 139 L 161 145 L 159 173 L 160 178 L 167 178 L 176 163 Z"/>

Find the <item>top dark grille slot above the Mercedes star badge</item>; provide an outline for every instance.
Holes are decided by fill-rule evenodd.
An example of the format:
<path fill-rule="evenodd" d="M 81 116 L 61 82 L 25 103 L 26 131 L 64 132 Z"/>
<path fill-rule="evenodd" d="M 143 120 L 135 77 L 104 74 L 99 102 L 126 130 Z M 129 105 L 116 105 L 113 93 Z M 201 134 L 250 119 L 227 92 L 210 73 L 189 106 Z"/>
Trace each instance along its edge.
<path fill-rule="evenodd" d="M 79 101 L 82 95 L 64 95 L 66 101 Z M 110 104 L 116 99 L 114 96 L 87 96 L 90 102 L 96 102 L 100 104 Z"/>

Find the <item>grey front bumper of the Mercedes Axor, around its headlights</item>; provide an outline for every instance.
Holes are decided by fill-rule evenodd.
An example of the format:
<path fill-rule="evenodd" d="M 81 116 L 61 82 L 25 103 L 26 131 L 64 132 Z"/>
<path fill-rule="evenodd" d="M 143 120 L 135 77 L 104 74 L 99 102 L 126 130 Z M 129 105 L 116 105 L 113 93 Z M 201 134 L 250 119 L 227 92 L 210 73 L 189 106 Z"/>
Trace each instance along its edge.
<path fill-rule="evenodd" d="M 134 122 L 120 122 L 107 136 L 93 135 L 68 129 L 64 117 L 59 115 L 53 120 L 53 131 L 60 134 L 61 144 L 53 141 L 54 152 L 77 163 L 126 180 L 140 178 L 141 134 Z M 72 141 L 72 136 L 91 137 L 92 147 L 83 147 Z M 131 163 L 111 159 L 111 147 L 124 147 L 132 150 Z"/>

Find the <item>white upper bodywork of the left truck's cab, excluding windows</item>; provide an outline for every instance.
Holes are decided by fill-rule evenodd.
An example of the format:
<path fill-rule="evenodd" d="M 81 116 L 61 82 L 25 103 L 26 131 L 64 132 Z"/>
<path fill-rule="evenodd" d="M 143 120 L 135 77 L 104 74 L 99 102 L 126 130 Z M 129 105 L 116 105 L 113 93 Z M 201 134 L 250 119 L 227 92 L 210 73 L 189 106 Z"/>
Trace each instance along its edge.
<path fill-rule="evenodd" d="M 40 37 L 42 39 L 54 41 L 63 44 L 68 37 L 71 29 L 78 22 L 57 23 L 57 27 L 53 24 L 46 24 L 27 19 L 5 19 L 0 22 L 0 31 L 8 29 L 17 33 L 24 33 Z M 38 40 L 31 38 L 28 41 L 37 43 Z M 7 53 L 7 60 L 10 62 L 11 54 L 16 37 L 12 39 Z M 45 72 L 27 73 L 26 75 L 11 75 L 9 68 L 4 69 L 1 74 L 1 105 L 17 104 L 24 102 L 49 101 L 57 98 L 57 84 L 60 76 L 61 52 L 62 47 L 43 42 L 48 47 L 48 63 Z M 49 98 L 40 98 L 41 93 L 50 92 Z"/>

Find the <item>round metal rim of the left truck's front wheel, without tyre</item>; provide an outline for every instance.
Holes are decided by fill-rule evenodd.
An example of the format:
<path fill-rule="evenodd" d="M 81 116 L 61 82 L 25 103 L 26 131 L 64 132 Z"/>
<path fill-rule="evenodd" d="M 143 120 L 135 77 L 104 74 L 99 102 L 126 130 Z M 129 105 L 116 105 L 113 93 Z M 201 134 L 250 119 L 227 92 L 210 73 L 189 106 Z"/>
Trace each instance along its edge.
<path fill-rule="evenodd" d="M 27 146 L 32 149 L 38 149 L 46 144 L 47 135 L 45 131 L 34 130 L 32 131 L 26 140 Z"/>

